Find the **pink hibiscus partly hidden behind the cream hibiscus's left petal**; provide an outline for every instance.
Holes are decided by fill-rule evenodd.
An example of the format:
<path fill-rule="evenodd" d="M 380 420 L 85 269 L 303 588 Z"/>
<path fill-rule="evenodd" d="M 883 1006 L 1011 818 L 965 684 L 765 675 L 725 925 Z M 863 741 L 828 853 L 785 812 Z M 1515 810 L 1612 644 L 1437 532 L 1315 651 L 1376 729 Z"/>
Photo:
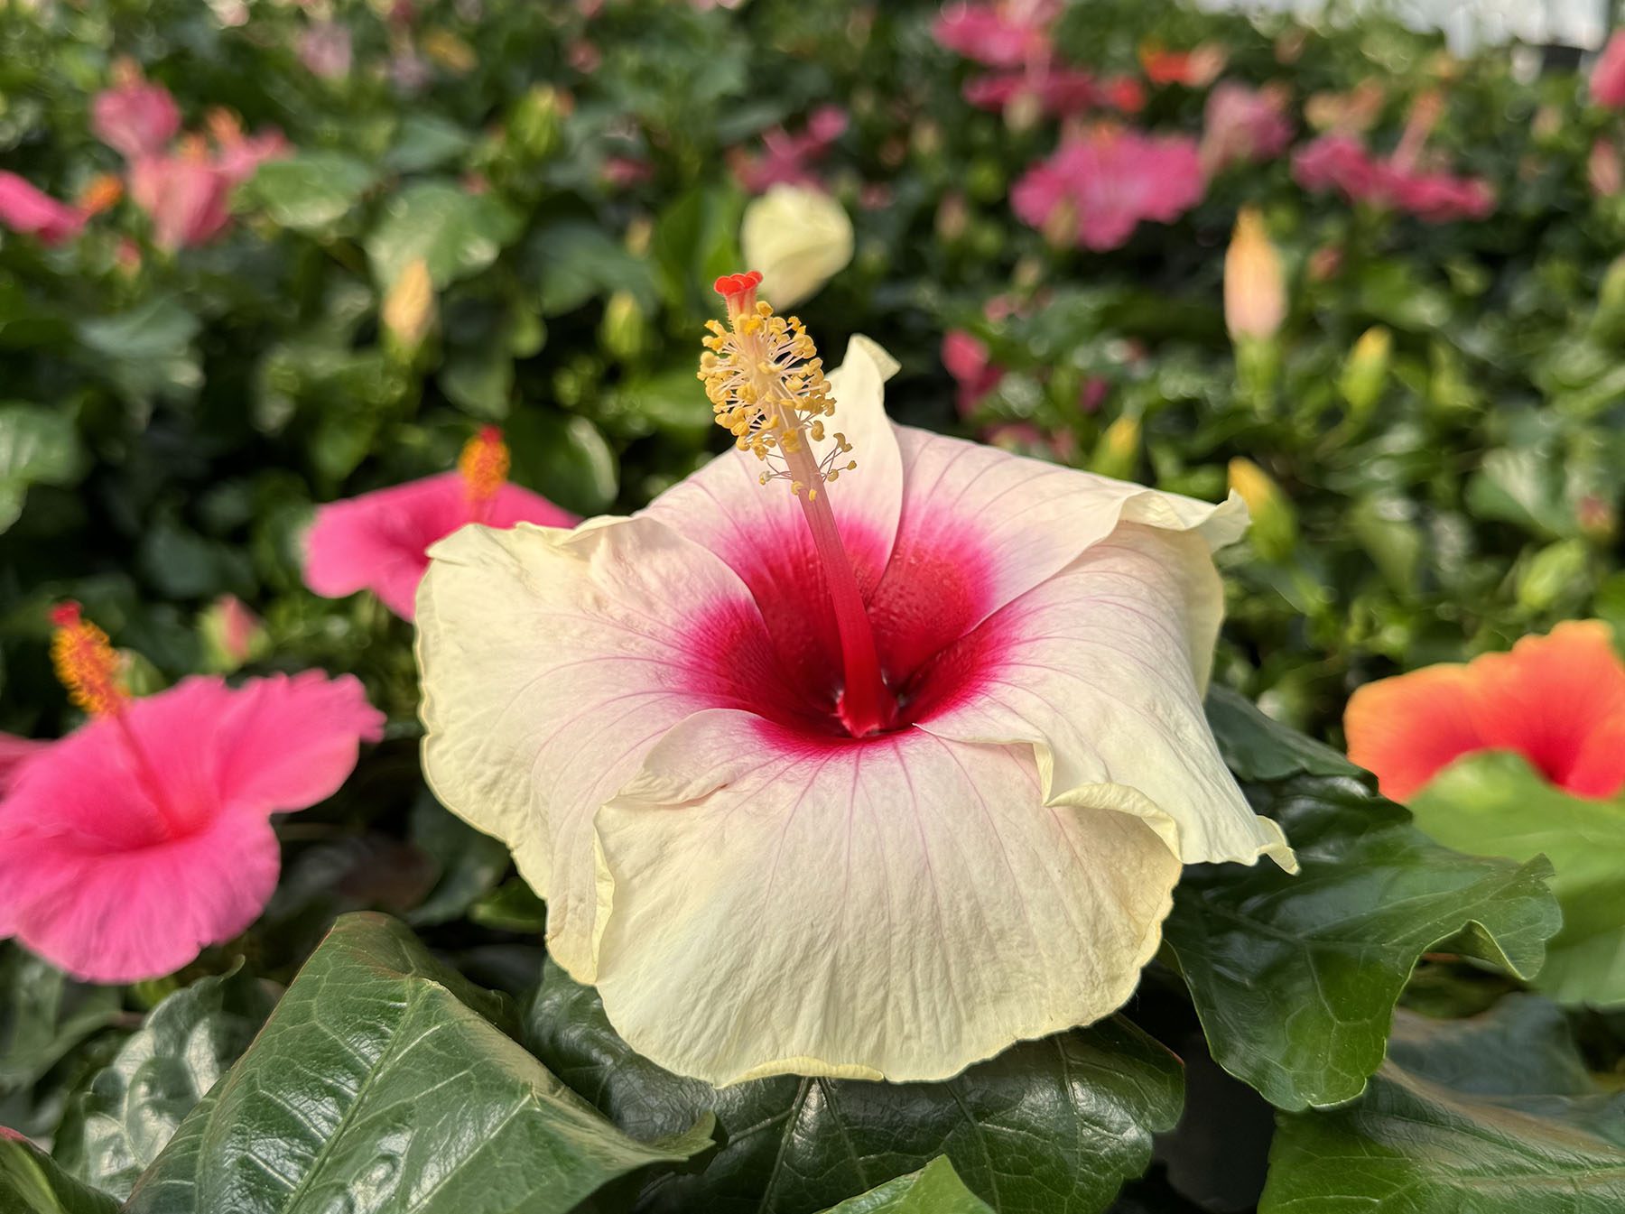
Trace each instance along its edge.
<path fill-rule="evenodd" d="M 411 619 L 436 540 L 466 523 L 578 522 L 546 497 L 509 484 L 507 470 L 502 432 L 488 426 L 463 447 L 457 471 L 317 507 L 304 544 L 306 585 L 325 598 L 370 590 L 396 616 Z"/>

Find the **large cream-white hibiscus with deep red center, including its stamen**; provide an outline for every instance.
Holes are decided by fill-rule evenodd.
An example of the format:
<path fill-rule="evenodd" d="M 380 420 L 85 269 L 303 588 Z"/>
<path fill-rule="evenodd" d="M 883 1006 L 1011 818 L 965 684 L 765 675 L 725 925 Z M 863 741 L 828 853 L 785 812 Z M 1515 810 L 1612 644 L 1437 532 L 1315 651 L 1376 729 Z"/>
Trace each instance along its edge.
<path fill-rule="evenodd" d="M 426 769 L 640 1053 L 942 1079 L 1118 1008 L 1181 863 L 1294 863 L 1201 707 L 1246 514 L 894 426 L 757 281 L 700 372 L 736 450 L 431 549 Z"/>

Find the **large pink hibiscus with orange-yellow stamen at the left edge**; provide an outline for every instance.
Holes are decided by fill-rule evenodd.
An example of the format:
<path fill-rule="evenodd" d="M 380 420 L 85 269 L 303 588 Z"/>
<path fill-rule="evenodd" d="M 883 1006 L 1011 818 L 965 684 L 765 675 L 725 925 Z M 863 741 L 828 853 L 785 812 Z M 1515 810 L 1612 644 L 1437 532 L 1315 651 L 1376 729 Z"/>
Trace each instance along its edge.
<path fill-rule="evenodd" d="M 132 699 L 107 634 L 72 603 L 52 619 L 91 720 L 0 801 L 0 936 L 88 982 L 162 977 L 258 918 L 281 866 L 270 816 L 338 791 L 384 715 L 320 671 Z"/>

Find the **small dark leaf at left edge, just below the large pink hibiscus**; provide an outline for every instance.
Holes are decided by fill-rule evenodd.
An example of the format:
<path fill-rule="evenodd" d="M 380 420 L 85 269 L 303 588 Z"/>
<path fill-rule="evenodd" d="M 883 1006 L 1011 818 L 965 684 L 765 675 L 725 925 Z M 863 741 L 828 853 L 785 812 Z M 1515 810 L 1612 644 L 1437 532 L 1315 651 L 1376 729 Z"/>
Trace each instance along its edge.
<path fill-rule="evenodd" d="M 114 986 L 89 986 L 16 946 L 0 952 L 0 1092 L 28 1087 L 119 1019 Z"/>

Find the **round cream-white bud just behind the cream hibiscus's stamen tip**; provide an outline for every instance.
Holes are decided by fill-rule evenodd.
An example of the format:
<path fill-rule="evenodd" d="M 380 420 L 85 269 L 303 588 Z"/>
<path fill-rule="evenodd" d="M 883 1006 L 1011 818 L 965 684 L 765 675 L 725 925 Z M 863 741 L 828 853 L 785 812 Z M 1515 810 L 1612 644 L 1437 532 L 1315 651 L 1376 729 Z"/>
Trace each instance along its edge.
<path fill-rule="evenodd" d="M 852 219 L 822 190 L 778 184 L 744 208 L 739 247 L 762 271 L 762 297 L 795 307 L 852 262 Z"/>

